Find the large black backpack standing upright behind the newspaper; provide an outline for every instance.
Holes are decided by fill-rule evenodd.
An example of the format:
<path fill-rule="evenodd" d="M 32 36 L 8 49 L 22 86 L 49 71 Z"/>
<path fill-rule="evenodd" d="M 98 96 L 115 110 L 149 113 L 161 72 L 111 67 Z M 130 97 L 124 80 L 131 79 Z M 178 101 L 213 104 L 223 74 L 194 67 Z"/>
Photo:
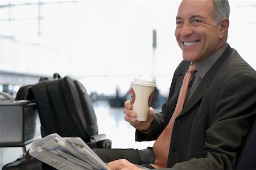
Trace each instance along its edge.
<path fill-rule="evenodd" d="M 81 137 L 88 146 L 110 148 L 112 142 L 98 134 L 96 114 L 85 87 L 70 76 L 41 78 L 31 87 L 41 122 L 42 136 Z"/>

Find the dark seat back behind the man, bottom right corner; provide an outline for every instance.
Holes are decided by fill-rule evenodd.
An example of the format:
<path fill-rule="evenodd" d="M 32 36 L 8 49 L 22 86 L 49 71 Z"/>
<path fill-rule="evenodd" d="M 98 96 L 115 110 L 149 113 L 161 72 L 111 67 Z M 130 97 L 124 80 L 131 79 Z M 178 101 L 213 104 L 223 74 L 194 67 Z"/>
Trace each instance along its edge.
<path fill-rule="evenodd" d="M 243 147 L 236 169 L 256 169 L 256 121 Z"/>

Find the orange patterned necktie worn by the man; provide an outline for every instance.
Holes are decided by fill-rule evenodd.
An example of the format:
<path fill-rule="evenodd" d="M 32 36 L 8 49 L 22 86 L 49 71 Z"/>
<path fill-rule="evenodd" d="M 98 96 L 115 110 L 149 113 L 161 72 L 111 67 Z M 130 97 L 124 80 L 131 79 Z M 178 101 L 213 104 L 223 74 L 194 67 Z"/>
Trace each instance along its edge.
<path fill-rule="evenodd" d="M 188 91 L 188 84 L 192 74 L 195 72 L 196 72 L 196 65 L 195 63 L 193 63 L 189 67 L 188 72 L 185 74 L 183 78 L 183 83 L 180 88 L 179 97 L 177 99 L 177 104 L 175 107 L 175 111 L 172 114 L 171 120 L 169 121 L 166 128 L 164 128 L 164 130 L 162 131 L 162 133 L 159 135 L 159 137 L 156 139 L 154 143 L 153 152 L 155 154 L 155 163 L 150 164 L 154 168 L 167 167 L 167 159 L 168 159 L 170 144 L 171 144 L 172 128 L 174 128 L 175 118 L 180 114 L 183 108 L 185 97 Z"/>

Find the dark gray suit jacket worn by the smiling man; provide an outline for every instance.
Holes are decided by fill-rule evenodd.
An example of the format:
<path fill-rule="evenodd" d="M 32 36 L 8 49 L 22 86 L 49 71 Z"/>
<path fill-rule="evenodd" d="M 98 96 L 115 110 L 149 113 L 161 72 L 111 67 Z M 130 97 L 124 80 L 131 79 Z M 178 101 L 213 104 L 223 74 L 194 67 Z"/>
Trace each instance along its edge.
<path fill-rule="evenodd" d="M 189 65 L 177 67 L 162 112 L 137 141 L 155 140 L 168 124 Z M 233 169 L 255 116 L 256 72 L 228 45 L 176 118 L 167 167 Z"/>

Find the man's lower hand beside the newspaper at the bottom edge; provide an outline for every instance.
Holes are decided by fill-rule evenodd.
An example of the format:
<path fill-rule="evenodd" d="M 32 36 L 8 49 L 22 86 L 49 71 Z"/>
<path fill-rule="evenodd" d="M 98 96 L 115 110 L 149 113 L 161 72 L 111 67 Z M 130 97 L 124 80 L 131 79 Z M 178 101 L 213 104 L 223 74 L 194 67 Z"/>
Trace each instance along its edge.
<path fill-rule="evenodd" d="M 112 170 L 141 170 L 141 168 L 136 167 L 134 164 L 130 163 L 128 160 L 126 159 L 118 159 L 118 160 L 114 160 L 110 163 L 108 163 L 108 167 Z"/>

